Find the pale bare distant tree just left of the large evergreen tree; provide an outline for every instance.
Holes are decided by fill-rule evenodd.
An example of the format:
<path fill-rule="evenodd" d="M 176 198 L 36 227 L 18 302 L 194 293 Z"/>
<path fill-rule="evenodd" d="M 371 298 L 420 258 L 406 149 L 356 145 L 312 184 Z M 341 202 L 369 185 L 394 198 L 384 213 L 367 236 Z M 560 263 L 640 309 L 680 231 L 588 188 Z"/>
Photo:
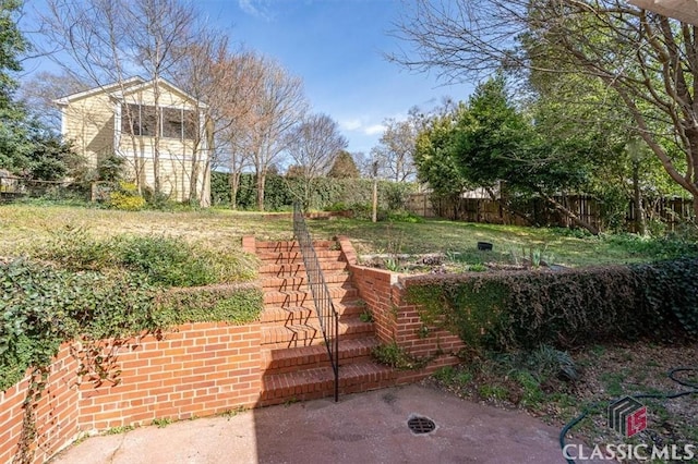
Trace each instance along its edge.
<path fill-rule="evenodd" d="M 410 110 L 406 120 L 386 119 L 385 132 L 378 145 L 372 148 L 372 158 L 378 162 L 384 178 L 406 182 L 414 178 L 414 144 L 419 118 L 417 108 Z"/>

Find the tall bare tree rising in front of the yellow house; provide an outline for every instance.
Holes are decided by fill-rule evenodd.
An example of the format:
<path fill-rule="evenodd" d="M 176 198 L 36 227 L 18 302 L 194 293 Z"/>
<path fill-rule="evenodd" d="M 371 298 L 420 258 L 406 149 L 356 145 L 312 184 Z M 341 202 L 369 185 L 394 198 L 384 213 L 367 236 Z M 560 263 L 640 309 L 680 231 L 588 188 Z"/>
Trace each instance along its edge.
<path fill-rule="evenodd" d="M 44 50 L 53 57 L 65 73 L 93 86 L 117 83 L 125 95 L 133 74 L 144 74 L 154 82 L 156 121 L 161 120 L 159 80 L 171 77 L 189 45 L 197 38 L 196 11 L 180 0 L 47 0 L 39 13 L 41 33 L 52 47 Z M 123 114 L 131 131 L 131 167 L 141 190 L 145 183 L 144 146 L 133 130 L 134 114 L 124 105 Z M 160 132 L 153 134 L 154 188 L 161 188 Z M 116 149 L 117 147 L 115 147 Z"/>

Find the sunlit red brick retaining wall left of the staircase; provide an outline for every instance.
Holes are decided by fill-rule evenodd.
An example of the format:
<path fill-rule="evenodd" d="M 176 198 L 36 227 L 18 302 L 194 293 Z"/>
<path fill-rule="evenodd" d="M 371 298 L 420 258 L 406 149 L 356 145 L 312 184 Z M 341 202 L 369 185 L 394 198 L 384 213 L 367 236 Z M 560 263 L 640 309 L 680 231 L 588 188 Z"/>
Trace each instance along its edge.
<path fill-rule="evenodd" d="M 45 462 L 81 434 L 153 419 L 183 419 L 254 406 L 261 391 L 260 325 L 190 323 L 119 346 L 110 371 L 119 382 L 80 378 L 80 362 L 64 344 L 37 403 L 34 462 Z M 74 347 L 74 345 L 73 345 Z M 17 453 L 28 376 L 0 392 L 0 463 Z"/>

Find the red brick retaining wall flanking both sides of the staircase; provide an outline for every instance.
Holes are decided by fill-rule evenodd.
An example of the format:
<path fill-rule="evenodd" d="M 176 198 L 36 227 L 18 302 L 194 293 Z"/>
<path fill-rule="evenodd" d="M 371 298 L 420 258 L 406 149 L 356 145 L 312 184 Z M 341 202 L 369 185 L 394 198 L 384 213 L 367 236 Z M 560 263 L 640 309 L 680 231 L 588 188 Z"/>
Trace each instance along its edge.
<path fill-rule="evenodd" d="M 254 252 L 254 237 L 243 248 Z M 418 307 L 405 302 L 398 274 L 359 266 L 353 247 L 339 240 L 349 271 L 372 312 L 376 337 L 397 343 L 413 356 L 430 358 L 418 370 L 395 371 L 387 383 L 364 390 L 418 381 L 443 366 L 459 362 L 464 344 L 447 331 L 426 328 Z M 120 370 L 118 383 L 83 375 L 75 344 L 61 346 L 41 398 L 36 403 L 36 438 L 29 440 L 35 463 L 47 461 L 83 434 L 112 427 L 149 425 L 154 419 L 184 419 L 260 404 L 262 391 L 260 323 L 189 323 L 163 334 L 147 334 L 103 349 L 117 356 L 109 371 Z M 77 349 L 77 350 L 76 350 Z M 0 392 L 0 463 L 10 463 L 22 440 L 27 378 Z M 388 384 L 389 383 L 389 384 Z M 291 399 L 292 396 L 289 396 Z"/>

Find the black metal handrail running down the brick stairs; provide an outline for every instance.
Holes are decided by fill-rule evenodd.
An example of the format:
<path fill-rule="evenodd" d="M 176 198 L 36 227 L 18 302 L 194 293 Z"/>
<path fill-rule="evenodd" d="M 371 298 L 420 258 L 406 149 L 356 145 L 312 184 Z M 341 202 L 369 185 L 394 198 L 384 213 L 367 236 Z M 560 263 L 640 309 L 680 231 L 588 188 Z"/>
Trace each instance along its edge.
<path fill-rule="evenodd" d="M 339 315 L 332 302 L 332 295 L 313 246 L 313 239 L 308 232 L 303 209 L 298 203 L 293 205 L 293 235 L 296 235 L 301 249 L 308 273 L 308 286 L 313 295 L 315 312 L 320 319 L 329 363 L 335 375 L 335 401 L 339 401 Z"/>

